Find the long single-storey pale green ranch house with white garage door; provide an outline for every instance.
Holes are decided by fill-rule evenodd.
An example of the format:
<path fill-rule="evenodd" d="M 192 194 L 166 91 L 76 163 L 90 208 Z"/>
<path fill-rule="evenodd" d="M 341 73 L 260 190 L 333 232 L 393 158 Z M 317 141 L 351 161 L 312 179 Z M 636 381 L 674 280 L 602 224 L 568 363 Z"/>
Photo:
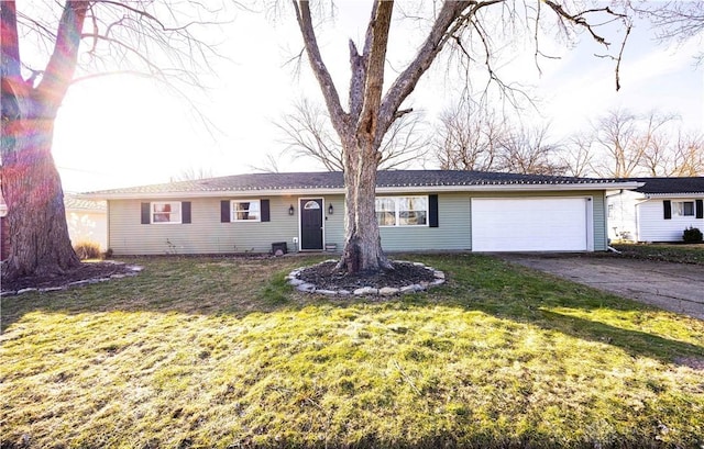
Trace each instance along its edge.
<path fill-rule="evenodd" d="M 387 251 L 605 250 L 607 190 L 634 181 L 477 171 L 380 171 Z M 108 202 L 114 255 L 342 249 L 341 172 L 255 173 L 85 193 Z"/>

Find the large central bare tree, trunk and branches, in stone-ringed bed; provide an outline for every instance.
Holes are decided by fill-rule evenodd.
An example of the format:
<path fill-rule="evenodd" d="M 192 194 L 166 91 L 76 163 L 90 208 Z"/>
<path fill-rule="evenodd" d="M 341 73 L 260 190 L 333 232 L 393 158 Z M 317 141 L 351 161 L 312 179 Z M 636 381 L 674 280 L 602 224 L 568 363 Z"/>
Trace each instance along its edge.
<path fill-rule="evenodd" d="M 598 23 L 623 21 L 626 30 L 630 27 L 627 15 L 612 8 L 552 0 L 433 2 L 432 8 L 419 14 L 405 12 L 418 21 L 424 20 L 421 14 L 426 14 L 430 25 L 422 34 L 415 56 L 405 67 L 394 67 L 398 75 L 388 80 L 386 63 L 394 2 L 375 0 L 361 47 L 352 40 L 349 42 L 350 80 L 348 106 L 344 108 L 318 45 L 310 3 L 307 0 L 295 1 L 305 52 L 342 144 L 346 216 L 339 268 L 349 272 L 393 268 L 382 250 L 375 214 L 376 177 L 382 158 L 380 146 L 392 125 L 410 112 L 410 109 L 403 108 L 404 101 L 444 48 L 455 50 L 457 57 L 450 63 L 482 64 L 490 80 L 505 87 L 494 68 L 497 41 L 504 34 L 515 33 L 517 38 L 532 40 L 536 60 L 541 56 L 538 36 L 550 25 L 561 30 L 565 38 L 572 32 L 585 32 L 597 43 L 608 46 L 598 33 Z M 406 41 L 413 37 L 407 34 L 398 36 Z M 616 59 L 620 60 L 620 53 Z"/>

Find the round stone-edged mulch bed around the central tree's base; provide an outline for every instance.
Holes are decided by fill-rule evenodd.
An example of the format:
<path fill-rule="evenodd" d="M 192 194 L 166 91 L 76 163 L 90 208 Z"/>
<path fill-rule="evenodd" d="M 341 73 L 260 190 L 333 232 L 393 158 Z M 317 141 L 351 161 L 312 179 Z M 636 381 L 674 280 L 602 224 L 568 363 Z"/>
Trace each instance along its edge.
<path fill-rule="evenodd" d="M 393 270 L 350 274 L 336 269 L 337 261 L 322 262 L 300 271 L 298 279 L 316 285 L 318 290 L 355 290 L 362 287 L 382 289 L 403 288 L 420 282 L 432 282 L 433 271 L 408 262 L 392 262 Z"/>

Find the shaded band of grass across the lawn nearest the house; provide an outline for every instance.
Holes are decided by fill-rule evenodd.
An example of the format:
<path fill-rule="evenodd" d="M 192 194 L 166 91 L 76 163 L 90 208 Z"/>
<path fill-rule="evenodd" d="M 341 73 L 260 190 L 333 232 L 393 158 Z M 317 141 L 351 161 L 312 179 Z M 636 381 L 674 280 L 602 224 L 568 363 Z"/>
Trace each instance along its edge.
<path fill-rule="evenodd" d="M 167 261 L 161 260 L 157 266 L 145 263 L 145 270 L 136 278 L 59 292 L 2 298 L 2 333 L 30 312 L 72 315 L 153 312 L 243 318 L 253 313 L 297 313 L 308 306 L 345 308 L 372 304 L 411 310 L 441 305 L 457 307 L 462 312 L 482 312 L 503 321 L 607 344 L 631 356 L 653 358 L 668 363 L 692 358 L 704 360 L 702 346 L 563 312 L 572 310 L 575 315 L 600 310 L 616 310 L 617 313 L 631 315 L 636 312 L 644 322 L 651 319 L 653 314 L 662 313 L 671 319 L 678 319 L 682 326 L 688 326 L 685 323 L 698 326 L 694 318 L 675 318 L 674 314 L 487 256 L 460 254 L 402 257 L 405 260 L 421 260 L 446 271 L 449 283 L 428 293 L 388 300 L 331 300 L 295 292 L 284 279 L 290 269 L 316 263 L 319 257 L 255 262 L 190 259 L 178 261 L 186 263 L 185 267 L 174 266 L 170 269 L 163 266 Z M 207 277 L 204 277 L 204 270 L 208 271 Z M 250 291 L 238 294 L 238 289 Z"/>

